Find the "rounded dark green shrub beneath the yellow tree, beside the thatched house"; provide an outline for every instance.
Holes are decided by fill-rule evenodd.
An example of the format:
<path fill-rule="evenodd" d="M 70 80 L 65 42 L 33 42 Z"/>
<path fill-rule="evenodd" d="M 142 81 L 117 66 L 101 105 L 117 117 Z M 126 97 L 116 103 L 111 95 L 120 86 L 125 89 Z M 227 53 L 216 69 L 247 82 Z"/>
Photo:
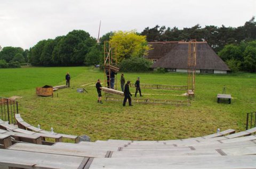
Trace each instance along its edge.
<path fill-rule="evenodd" d="M 142 57 L 132 57 L 118 64 L 122 72 L 147 72 L 152 63 Z"/>

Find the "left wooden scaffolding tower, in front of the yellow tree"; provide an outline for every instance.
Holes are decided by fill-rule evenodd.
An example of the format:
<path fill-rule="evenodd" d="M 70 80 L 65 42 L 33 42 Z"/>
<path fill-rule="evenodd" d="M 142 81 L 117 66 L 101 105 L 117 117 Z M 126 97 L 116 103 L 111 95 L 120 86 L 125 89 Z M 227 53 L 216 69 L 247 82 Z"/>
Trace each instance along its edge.
<path fill-rule="evenodd" d="M 104 41 L 104 77 L 105 77 L 105 87 L 110 88 L 110 75 L 111 72 L 117 73 L 119 68 L 117 65 L 117 45 L 111 44 L 109 41 Z M 117 78 L 115 75 L 115 85 L 114 89 L 117 89 Z"/>

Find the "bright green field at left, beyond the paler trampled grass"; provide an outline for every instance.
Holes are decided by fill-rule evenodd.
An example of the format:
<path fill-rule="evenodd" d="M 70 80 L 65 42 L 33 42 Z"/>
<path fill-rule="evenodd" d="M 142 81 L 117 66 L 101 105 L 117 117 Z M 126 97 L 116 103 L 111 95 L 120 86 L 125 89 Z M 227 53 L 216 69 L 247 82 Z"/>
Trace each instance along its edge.
<path fill-rule="evenodd" d="M 1 92 L 31 89 L 42 85 L 55 85 L 65 80 L 68 71 L 73 77 L 82 73 L 83 67 L 26 67 L 22 69 L 0 69 Z"/>

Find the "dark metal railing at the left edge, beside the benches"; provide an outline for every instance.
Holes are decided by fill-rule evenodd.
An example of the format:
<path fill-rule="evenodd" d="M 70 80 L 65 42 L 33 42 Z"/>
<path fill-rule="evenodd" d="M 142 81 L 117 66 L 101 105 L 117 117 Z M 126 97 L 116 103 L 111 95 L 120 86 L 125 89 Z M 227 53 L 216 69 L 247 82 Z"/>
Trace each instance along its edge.
<path fill-rule="evenodd" d="M 0 97 L 0 119 L 9 121 L 9 124 L 15 124 L 15 113 L 19 113 L 18 102 Z"/>

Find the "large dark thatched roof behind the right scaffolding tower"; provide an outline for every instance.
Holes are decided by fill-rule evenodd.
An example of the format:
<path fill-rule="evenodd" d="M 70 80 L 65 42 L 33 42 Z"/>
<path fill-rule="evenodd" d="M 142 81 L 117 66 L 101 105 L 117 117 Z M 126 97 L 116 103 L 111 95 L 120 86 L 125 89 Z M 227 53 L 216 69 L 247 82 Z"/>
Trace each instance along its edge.
<path fill-rule="evenodd" d="M 197 43 L 196 49 L 196 69 L 229 70 L 228 66 L 206 42 Z M 175 47 L 172 47 L 170 52 L 160 58 L 152 67 L 187 69 L 188 43 L 175 44 Z"/>

